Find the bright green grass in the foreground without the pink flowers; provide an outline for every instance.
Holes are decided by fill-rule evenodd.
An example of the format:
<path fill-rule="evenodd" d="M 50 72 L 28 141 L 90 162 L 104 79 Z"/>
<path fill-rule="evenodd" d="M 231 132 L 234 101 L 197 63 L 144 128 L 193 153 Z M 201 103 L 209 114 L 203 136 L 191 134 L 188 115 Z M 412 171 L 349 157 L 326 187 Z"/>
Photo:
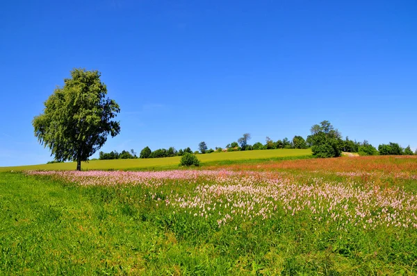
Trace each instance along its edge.
<path fill-rule="evenodd" d="M 304 183 L 304 174 L 298 176 Z M 0 173 L 0 275 L 416 273 L 414 229 L 352 225 L 340 232 L 309 212 L 288 216 L 281 209 L 265 221 L 219 228 L 217 217 L 173 214 L 163 204 L 166 194 L 194 196 L 202 183 L 80 187 Z"/>

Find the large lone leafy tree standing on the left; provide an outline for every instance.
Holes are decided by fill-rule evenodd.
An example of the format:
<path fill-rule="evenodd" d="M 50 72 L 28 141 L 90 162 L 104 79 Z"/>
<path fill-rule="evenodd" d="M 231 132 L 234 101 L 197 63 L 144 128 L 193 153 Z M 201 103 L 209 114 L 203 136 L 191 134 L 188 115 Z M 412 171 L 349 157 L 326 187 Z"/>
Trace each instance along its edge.
<path fill-rule="evenodd" d="M 74 69 L 64 86 L 44 102 L 44 113 L 33 119 L 35 137 L 49 147 L 57 161 L 87 161 L 107 140 L 120 132 L 120 122 L 112 119 L 120 112 L 114 100 L 106 98 L 107 87 L 99 71 Z"/>

